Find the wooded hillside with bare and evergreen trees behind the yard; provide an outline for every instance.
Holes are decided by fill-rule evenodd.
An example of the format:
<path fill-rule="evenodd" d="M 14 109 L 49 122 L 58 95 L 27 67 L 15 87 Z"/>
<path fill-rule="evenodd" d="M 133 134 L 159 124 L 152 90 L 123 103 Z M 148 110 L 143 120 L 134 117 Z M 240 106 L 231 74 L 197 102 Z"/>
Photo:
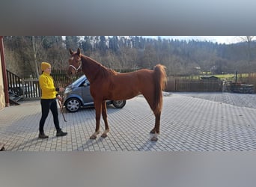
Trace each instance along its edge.
<path fill-rule="evenodd" d="M 6 36 L 4 55 L 7 70 L 22 78 L 37 78 L 42 61 L 64 70 L 70 48 L 80 48 L 82 54 L 120 72 L 164 64 L 168 76 L 252 73 L 256 72 L 256 42 L 252 38 L 219 44 L 138 36 Z"/>

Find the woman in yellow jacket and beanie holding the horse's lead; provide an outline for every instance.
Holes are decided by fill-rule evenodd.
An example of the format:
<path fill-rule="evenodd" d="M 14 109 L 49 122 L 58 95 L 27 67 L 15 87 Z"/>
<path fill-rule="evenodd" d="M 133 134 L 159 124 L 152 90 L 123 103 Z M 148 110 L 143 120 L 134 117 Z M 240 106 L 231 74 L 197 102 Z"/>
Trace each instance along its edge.
<path fill-rule="evenodd" d="M 52 111 L 53 122 L 55 125 L 55 129 L 57 130 L 56 136 L 67 135 L 67 132 L 63 132 L 59 126 L 58 106 L 56 102 L 56 98 L 61 100 L 61 96 L 58 95 L 58 91 L 63 92 L 64 88 L 55 88 L 53 78 L 52 76 L 50 76 L 51 64 L 47 62 L 42 62 L 41 69 L 42 69 L 42 74 L 39 77 L 39 85 L 42 91 L 42 96 L 40 100 L 42 117 L 39 123 L 38 138 L 49 138 L 49 136 L 45 135 L 43 131 L 43 126 L 49 114 L 49 110 Z"/>

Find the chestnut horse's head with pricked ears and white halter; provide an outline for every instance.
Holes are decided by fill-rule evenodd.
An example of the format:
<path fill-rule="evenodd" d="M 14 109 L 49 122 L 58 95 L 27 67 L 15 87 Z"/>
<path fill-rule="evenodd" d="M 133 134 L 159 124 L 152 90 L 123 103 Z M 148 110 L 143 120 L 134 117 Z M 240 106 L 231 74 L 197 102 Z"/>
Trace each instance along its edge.
<path fill-rule="evenodd" d="M 82 68 L 81 67 L 81 52 L 80 49 L 77 49 L 77 52 L 73 52 L 70 49 L 70 59 L 68 60 L 68 63 L 70 64 L 67 70 L 67 74 L 69 76 L 75 76 L 76 73 Z"/>

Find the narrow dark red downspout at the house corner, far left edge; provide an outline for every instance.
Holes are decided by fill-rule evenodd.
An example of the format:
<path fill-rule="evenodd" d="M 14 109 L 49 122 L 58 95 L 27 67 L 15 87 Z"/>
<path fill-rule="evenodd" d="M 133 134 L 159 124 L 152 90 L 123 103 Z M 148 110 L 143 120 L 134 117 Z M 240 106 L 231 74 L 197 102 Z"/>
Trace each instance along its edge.
<path fill-rule="evenodd" d="M 8 93 L 8 83 L 7 83 L 7 74 L 6 74 L 6 67 L 5 67 L 5 61 L 4 61 L 4 37 L 2 37 L 2 36 L 0 36 L 0 56 L 1 56 L 1 70 L 2 70 L 3 81 L 4 81 L 5 106 L 10 106 L 9 93 Z"/>

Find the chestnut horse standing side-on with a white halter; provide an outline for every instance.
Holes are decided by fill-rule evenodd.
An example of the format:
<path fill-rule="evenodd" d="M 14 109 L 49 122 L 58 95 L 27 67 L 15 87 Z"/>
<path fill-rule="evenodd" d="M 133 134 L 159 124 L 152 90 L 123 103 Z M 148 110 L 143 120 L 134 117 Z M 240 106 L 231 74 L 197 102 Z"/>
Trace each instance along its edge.
<path fill-rule="evenodd" d="M 77 49 L 77 52 L 70 49 L 70 54 L 68 74 L 74 76 L 82 70 L 90 82 L 90 92 L 94 98 L 96 128 L 90 139 L 97 138 L 100 133 L 101 113 L 105 123 L 105 131 L 101 137 L 106 138 L 109 132 L 106 100 L 131 99 L 142 94 L 156 117 L 155 126 L 150 133 L 154 134 L 151 141 L 157 141 L 162 111 L 162 91 L 166 85 L 165 67 L 157 64 L 153 70 L 143 69 L 131 73 L 117 73 L 88 56 L 82 55 L 80 49 Z"/>

